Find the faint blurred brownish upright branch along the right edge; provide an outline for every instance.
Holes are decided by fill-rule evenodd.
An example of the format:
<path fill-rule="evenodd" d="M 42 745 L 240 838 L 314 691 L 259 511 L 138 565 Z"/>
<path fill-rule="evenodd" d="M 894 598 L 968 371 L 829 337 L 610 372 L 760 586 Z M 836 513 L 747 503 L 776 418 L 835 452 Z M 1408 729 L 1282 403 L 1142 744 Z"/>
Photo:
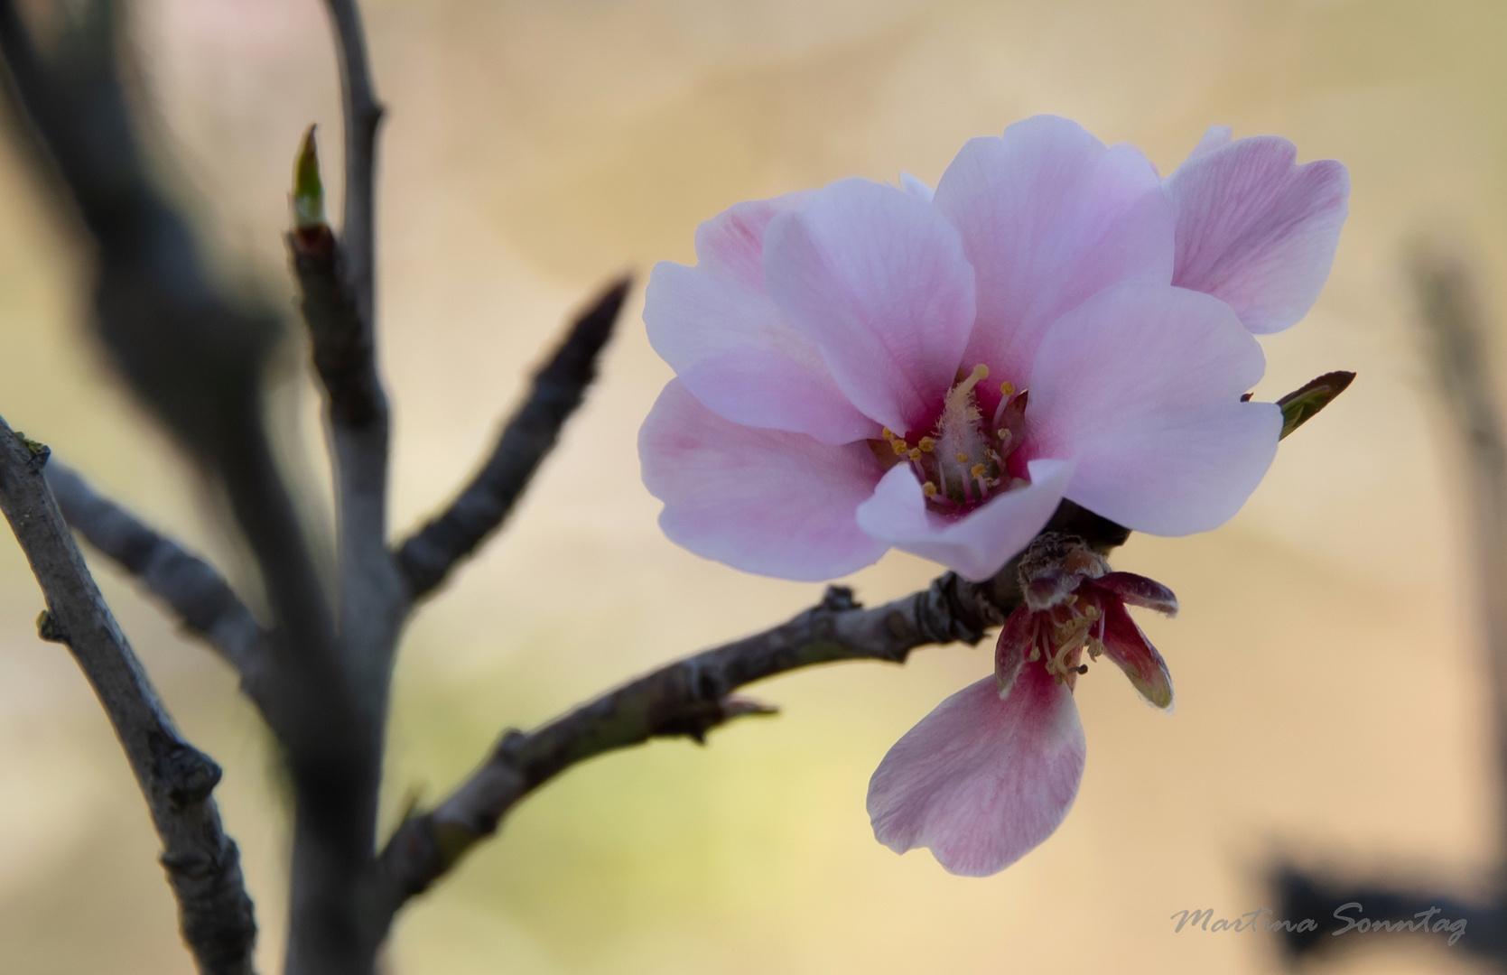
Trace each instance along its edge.
<path fill-rule="evenodd" d="M 1486 636 L 1501 788 L 1501 850 L 1507 851 L 1507 446 L 1489 372 L 1487 326 L 1459 258 L 1412 255 L 1420 318 L 1429 332 L 1439 390 L 1465 448 L 1475 598 Z M 1507 880 L 1507 876 L 1504 876 Z"/>

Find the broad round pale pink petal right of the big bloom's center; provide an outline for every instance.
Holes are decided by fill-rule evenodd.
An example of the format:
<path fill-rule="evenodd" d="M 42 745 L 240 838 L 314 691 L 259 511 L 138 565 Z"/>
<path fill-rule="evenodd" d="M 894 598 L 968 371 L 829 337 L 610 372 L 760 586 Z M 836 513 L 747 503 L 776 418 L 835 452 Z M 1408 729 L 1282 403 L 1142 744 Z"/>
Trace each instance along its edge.
<path fill-rule="evenodd" d="M 1225 303 L 1117 285 L 1043 339 L 1022 449 L 1074 457 L 1067 497 L 1126 527 L 1218 527 L 1276 455 L 1281 410 L 1240 402 L 1264 368 L 1260 344 Z"/>

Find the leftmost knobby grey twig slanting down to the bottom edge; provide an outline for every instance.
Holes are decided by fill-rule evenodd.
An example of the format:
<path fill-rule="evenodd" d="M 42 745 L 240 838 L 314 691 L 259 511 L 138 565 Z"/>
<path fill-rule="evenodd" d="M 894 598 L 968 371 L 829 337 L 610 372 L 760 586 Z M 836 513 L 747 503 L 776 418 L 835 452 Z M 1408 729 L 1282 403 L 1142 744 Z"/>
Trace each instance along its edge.
<path fill-rule="evenodd" d="M 66 643 L 93 686 L 163 842 L 184 940 L 205 975 L 250 975 L 256 921 L 240 853 L 211 791 L 220 767 L 173 726 L 74 544 L 42 475 L 47 448 L 0 419 L 0 509 L 32 565 L 44 639 Z"/>

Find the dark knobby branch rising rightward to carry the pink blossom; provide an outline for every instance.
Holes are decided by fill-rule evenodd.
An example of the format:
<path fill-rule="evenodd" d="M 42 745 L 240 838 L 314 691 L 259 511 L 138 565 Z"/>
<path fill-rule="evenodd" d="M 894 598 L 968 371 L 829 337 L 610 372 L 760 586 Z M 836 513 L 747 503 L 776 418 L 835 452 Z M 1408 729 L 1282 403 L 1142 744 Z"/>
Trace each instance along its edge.
<path fill-rule="evenodd" d="M 1108 552 L 1129 532 L 1062 502 L 1043 530 L 1070 532 Z M 576 763 L 651 738 L 689 735 L 750 713 L 732 698 L 744 684 L 838 660 L 904 663 L 933 643 L 977 643 L 1020 603 L 1019 556 L 992 580 L 948 573 L 924 592 L 874 609 L 832 586 L 790 622 L 678 660 L 527 734 L 508 731 L 491 756 L 436 809 L 404 821 L 381 854 L 390 910 L 425 891 L 472 845 L 496 832 L 530 791 Z"/>

